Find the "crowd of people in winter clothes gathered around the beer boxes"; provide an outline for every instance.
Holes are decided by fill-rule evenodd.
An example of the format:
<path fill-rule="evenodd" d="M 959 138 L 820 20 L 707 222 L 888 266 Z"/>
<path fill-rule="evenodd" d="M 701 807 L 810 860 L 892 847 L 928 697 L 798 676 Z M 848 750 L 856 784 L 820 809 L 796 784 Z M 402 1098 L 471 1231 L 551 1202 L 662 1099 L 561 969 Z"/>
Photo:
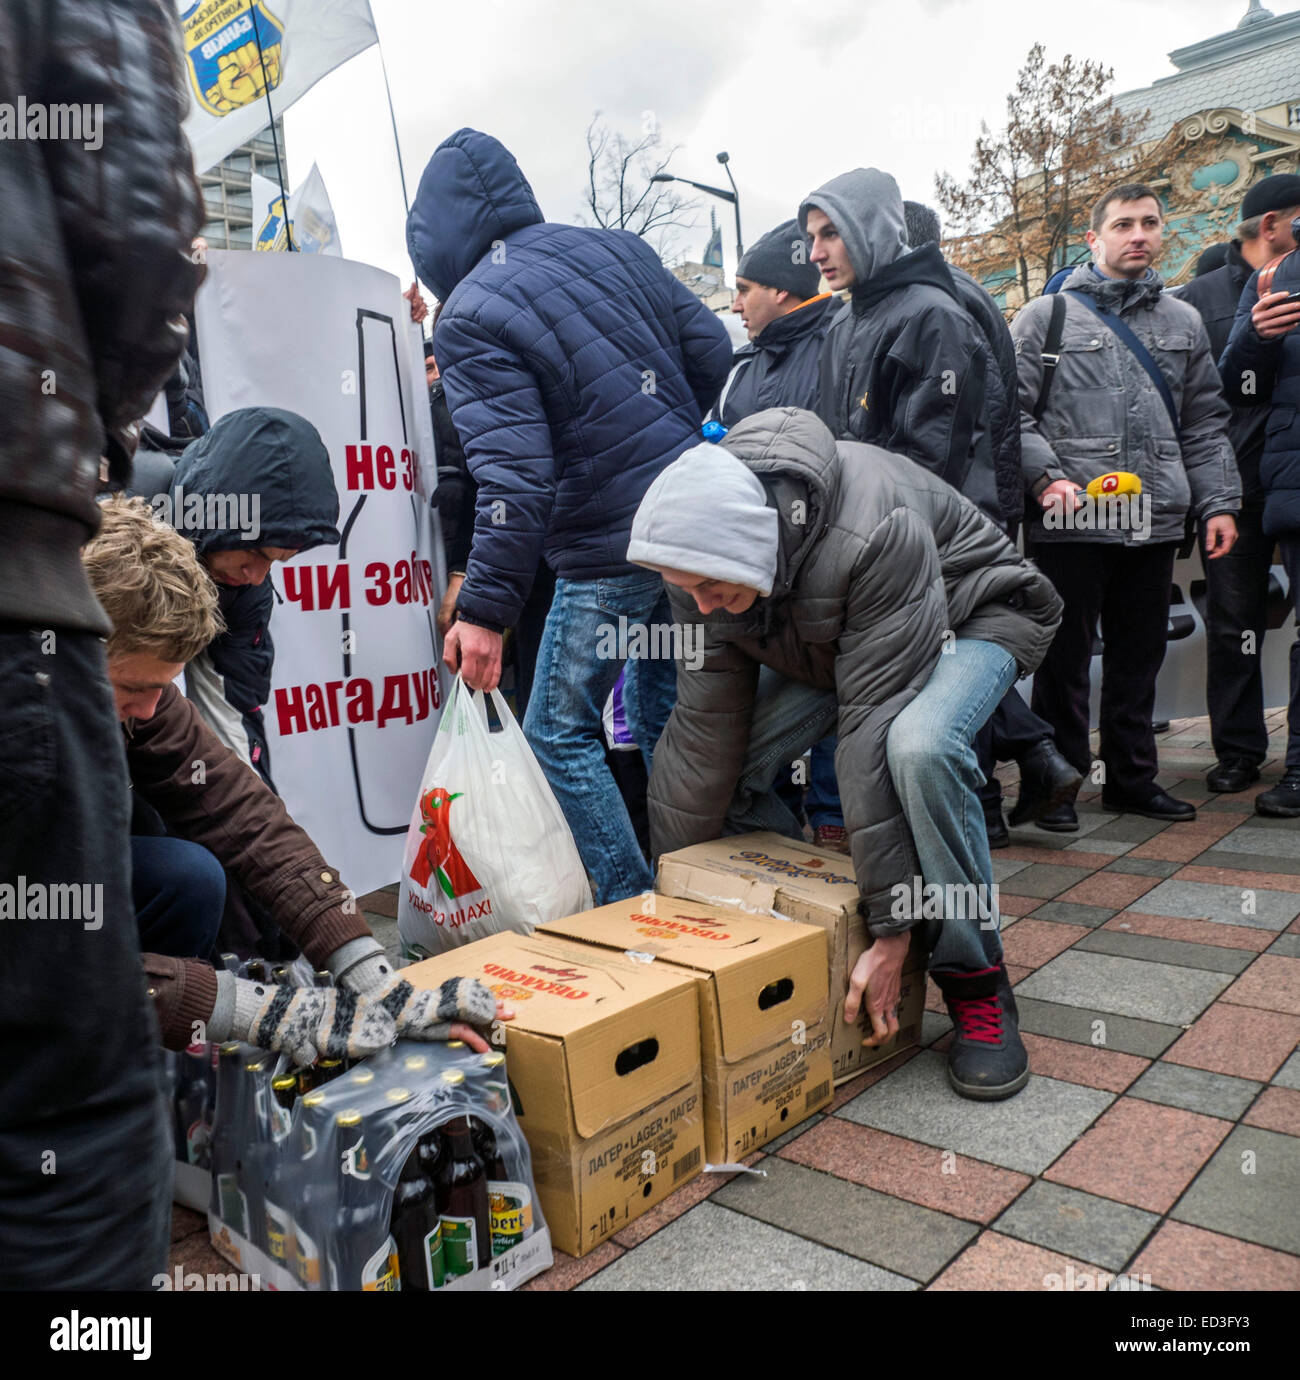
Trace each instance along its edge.
<path fill-rule="evenodd" d="M 276 793 L 268 575 L 338 544 L 338 495 L 306 418 L 208 426 L 188 315 L 203 204 L 161 14 L 0 15 L 6 90 L 55 102 L 92 79 L 138 131 L 92 161 L 73 142 L 0 149 L 7 1286 L 145 1288 L 161 1270 L 160 1038 L 299 1058 L 396 1034 L 486 1049 L 512 1014 L 475 983 L 414 991 Z M 127 29 L 139 43 L 115 41 Z M 737 265 L 749 341 L 733 353 L 644 240 L 545 221 L 491 135 L 437 146 L 407 243 L 437 302 L 444 660 L 476 690 L 509 667 L 598 905 L 729 832 L 843 853 L 872 943 L 842 1018 L 889 1039 L 919 945 L 955 1025 L 952 1087 L 1003 1098 L 1030 1068 L 995 905 L 995 767 L 1018 765 L 1013 825 L 1078 829 L 1085 778 L 1105 810 L 1195 817 L 1158 784 L 1152 724 L 1191 529 L 1209 789 L 1246 789 L 1267 756 L 1275 542 L 1300 593 L 1300 177 L 1256 182 L 1221 262 L 1176 290 L 1155 264 L 1177 207 L 1116 185 L 1092 208 L 1089 262 L 1010 326 L 887 172 L 845 172 L 791 211 Z M 170 432 L 137 450 L 160 391 Z M 232 491 L 259 495 L 255 538 L 177 530 L 150 502 Z M 700 654 L 609 656 L 620 621 L 687 629 L 647 644 Z M 611 702 L 640 774 L 610 751 Z M 1256 807 L 1300 817 L 1300 643 L 1289 724 Z M 985 904 L 914 914 L 916 880 Z M 52 900 L 73 893 L 70 918 Z M 239 977 L 218 951 L 301 951 L 333 985 Z"/>

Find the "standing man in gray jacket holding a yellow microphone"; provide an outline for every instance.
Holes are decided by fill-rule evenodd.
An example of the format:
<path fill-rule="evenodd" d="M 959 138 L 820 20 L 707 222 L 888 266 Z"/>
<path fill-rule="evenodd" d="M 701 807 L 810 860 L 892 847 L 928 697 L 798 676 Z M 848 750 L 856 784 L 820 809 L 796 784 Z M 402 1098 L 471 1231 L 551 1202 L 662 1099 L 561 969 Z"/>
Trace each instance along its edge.
<path fill-rule="evenodd" d="M 1025 544 L 1065 600 L 1034 678 L 1034 712 L 1074 767 L 1092 773 L 1089 668 L 1100 620 L 1101 807 L 1183 822 L 1196 810 L 1156 782 L 1151 727 L 1173 562 L 1190 512 L 1203 524 L 1209 560 L 1232 549 L 1241 477 L 1205 324 L 1151 268 L 1165 230 L 1159 197 L 1141 184 L 1112 188 L 1090 224 L 1093 262 L 1012 322 L 1021 468 L 1038 500 Z M 1053 310 L 1061 313 L 1056 351 L 1046 348 Z M 1053 357 L 1058 377 L 1045 392 L 1043 360 Z M 1137 475 L 1141 493 L 1087 493 L 1115 471 Z M 1074 803 L 1038 825 L 1078 829 Z"/>

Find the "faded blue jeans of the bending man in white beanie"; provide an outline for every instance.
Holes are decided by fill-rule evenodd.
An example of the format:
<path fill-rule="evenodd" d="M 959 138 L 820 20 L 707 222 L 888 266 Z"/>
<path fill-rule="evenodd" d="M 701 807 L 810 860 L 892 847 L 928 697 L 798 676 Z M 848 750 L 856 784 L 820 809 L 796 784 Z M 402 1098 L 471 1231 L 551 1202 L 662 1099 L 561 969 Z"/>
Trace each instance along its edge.
<path fill-rule="evenodd" d="M 976 793 L 984 773 L 974 738 L 1016 683 L 1016 661 L 992 642 L 959 638 L 952 649 L 938 658 L 920 693 L 890 724 L 889 770 L 912 831 L 923 882 L 962 887 L 974 883 L 985 889 L 980 896 L 991 900 L 996 894 L 994 865 Z M 773 829 L 788 838 L 802 836 L 789 807 L 771 787 L 795 758 L 834 730 L 836 718 L 834 690 L 816 690 L 762 671 L 749 752 L 727 810 L 727 834 Z M 981 922 L 970 909 L 923 922 L 932 969 L 978 970 L 1001 962 L 998 916 Z"/>

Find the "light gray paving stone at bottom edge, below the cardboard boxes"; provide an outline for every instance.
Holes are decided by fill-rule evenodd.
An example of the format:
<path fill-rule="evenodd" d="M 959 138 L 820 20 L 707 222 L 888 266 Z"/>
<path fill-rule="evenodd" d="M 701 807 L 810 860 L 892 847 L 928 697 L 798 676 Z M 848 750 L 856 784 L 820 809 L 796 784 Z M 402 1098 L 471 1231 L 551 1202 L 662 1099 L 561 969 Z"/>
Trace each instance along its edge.
<path fill-rule="evenodd" d="M 592 1275 L 578 1290 L 915 1289 L 916 1282 L 744 1213 L 702 1202 Z"/>

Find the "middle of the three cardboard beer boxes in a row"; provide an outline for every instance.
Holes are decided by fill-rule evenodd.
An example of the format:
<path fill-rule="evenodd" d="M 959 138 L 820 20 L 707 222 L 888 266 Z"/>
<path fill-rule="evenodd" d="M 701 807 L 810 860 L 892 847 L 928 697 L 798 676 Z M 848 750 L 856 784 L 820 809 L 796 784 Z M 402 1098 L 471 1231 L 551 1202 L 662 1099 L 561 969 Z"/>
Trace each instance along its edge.
<path fill-rule="evenodd" d="M 742 1159 L 831 1101 L 825 940 L 816 926 L 651 894 L 544 930 L 694 977 L 709 1163 Z"/>

